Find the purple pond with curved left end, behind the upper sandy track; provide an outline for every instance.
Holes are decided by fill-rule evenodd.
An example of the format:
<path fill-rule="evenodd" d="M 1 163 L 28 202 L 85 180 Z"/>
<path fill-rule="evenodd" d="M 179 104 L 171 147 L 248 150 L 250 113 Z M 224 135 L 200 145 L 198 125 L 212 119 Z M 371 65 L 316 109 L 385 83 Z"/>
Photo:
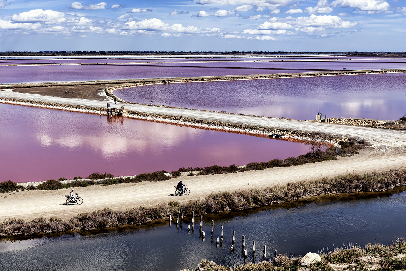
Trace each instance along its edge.
<path fill-rule="evenodd" d="M 397 120 L 406 114 L 406 73 L 316 76 L 147 85 L 114 91 L 126 102 L 289 119 L 358 117 Z"/>

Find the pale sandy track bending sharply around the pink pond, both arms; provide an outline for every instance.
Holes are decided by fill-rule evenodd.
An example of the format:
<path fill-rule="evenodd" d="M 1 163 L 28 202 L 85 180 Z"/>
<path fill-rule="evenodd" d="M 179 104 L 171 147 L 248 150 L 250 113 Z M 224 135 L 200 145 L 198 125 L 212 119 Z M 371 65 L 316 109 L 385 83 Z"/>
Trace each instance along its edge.
<path fill-rule="evenodd" d="M 15 98 L 38 102 L 105 107 L 106 102 L 84 99 L 57 98 L 44 95 L 0 91 L 0 99 Z M 0 100 L 1 102 L 1 100 Z M 205 197 L 212 192 L 238 191 L 251 187 L 263 187 L 273 184 L 317 178 L 320 176 L 335 176 L 346 173 L 365 173 L 384 171 L 406 167 L 406 132 L 348 126 L 341 124 L 326 124 L 306 121 L 292 121 L 268 117 L 240 116 L 211 111 L 200 111 L 182 108 L 165 108 L 145 106 L 140 104 L 117 103 L 115 107 L 132 108 L 133 110 L 162 115 L 183 116 L 195 119 L 222 121 L 235 124 L 270 127 L 282 130 L 297 130 L 305 132 L 326 132 L 343 136 L 362 137 L 371 143 L 370 148 L 360 154 L 339 158 L 334 161 L 306 164 L 293 167 L 272 168 L 261 171 L 246 171 L 222 175 L 182 177 L 192 193 L 184 197 L 171 196 L 179 178 L 164 182 L 141 182 L 137 184 L 118 184 L 111 186 L 78 187 L 76 192 L 84 198 L 84 204 L 63 205 L 68 190 L 56 191 L 20 191 L 14 195 L 2 194 L 0 198 L 0 217 L 17 217 L 32 219 L 38 215 L 45 217 L 59 216 L 70 218 L 78 212 L 93 211 L 104 207 L 126 209 L 140 205 L 155 205 L 160 202 L 173 200 L 187 201 Z"/>

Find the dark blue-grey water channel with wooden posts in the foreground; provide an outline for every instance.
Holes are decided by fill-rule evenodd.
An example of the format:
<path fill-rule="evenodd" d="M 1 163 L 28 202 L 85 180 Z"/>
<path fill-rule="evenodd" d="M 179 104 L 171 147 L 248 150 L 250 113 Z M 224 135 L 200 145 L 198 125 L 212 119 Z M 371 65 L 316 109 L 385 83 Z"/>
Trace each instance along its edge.
<path fill-rule="evenodd" d="M 389 193 L 389 192 L 387 192 Z M 385 193 L 381 193 L 385 194 Z M 215 221 L 214 238 L 210 221 Z M 199 221 L 199 219 L 197 219 Z M 279 254 L 332 249 L 349 243 L 391 243 L 406 232 L 406 192 L 377 198 L 321 201 L 293 208 L 259 208 L 228 215 L 205 216 L 202 242 L 199 224 L 188 234 L 181 227 L 164 223 L 130 230 L 104 233 L 63 234 L 60 237 L 0 241 L 0 264 L 7 270 L 193 270 L 202 258 L 235 267 L 244 264 L 241 236 L 245 235 L 247 262 L 252 261 L 252 241 L 256 241 L 254 262 Z M 224 238 L 216 247 L 220 225 Z M 232 231 L 235 252 L 230 253 Z M 214 242 L 213 242 L 214 241 Z"/>

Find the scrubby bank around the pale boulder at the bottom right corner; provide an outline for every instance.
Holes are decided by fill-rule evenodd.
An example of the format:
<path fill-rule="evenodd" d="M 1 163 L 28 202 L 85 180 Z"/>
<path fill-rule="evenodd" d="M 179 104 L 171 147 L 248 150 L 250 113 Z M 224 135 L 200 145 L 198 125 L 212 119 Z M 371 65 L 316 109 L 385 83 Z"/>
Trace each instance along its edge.
<path fill-rule="evenodd" d="M 279 254 L 270 261 L 259 262 L 258 264 L 248 263 L 233 269 L 218 265 L 206 259 L 201 260 L 194 271 L 394 271 L 406 269 L 406 257 L 399 254 L 406 253 L 406 243 L 404 238 L 395 238 L 390 245 L 367 244 L 361 248 L 358 246 L 339 247 L 327 253 L 320 253 L 320 262 L 315 262 L 309 267 L 302 267 L 300 261 L 302 256 L 290 259 Z M 372 256 L 372 257 L 367 257 Z M 333 265 L 334 264 L 334 265 Z M 336 267 L 335 264 L 343 266 Z M 182 271 L 187 271 L 186 269 Z"/>

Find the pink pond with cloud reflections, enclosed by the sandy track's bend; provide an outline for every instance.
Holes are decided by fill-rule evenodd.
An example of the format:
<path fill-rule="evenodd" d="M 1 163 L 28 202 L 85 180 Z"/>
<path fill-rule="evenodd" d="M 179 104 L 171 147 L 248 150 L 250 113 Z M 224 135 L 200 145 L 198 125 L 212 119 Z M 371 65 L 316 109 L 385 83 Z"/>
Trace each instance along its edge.
<path fill-rule="evenodd" d="M 0 181 L 245 165 L 308 152 L 302 143 L 123 117 L 0 104 Z"/>

